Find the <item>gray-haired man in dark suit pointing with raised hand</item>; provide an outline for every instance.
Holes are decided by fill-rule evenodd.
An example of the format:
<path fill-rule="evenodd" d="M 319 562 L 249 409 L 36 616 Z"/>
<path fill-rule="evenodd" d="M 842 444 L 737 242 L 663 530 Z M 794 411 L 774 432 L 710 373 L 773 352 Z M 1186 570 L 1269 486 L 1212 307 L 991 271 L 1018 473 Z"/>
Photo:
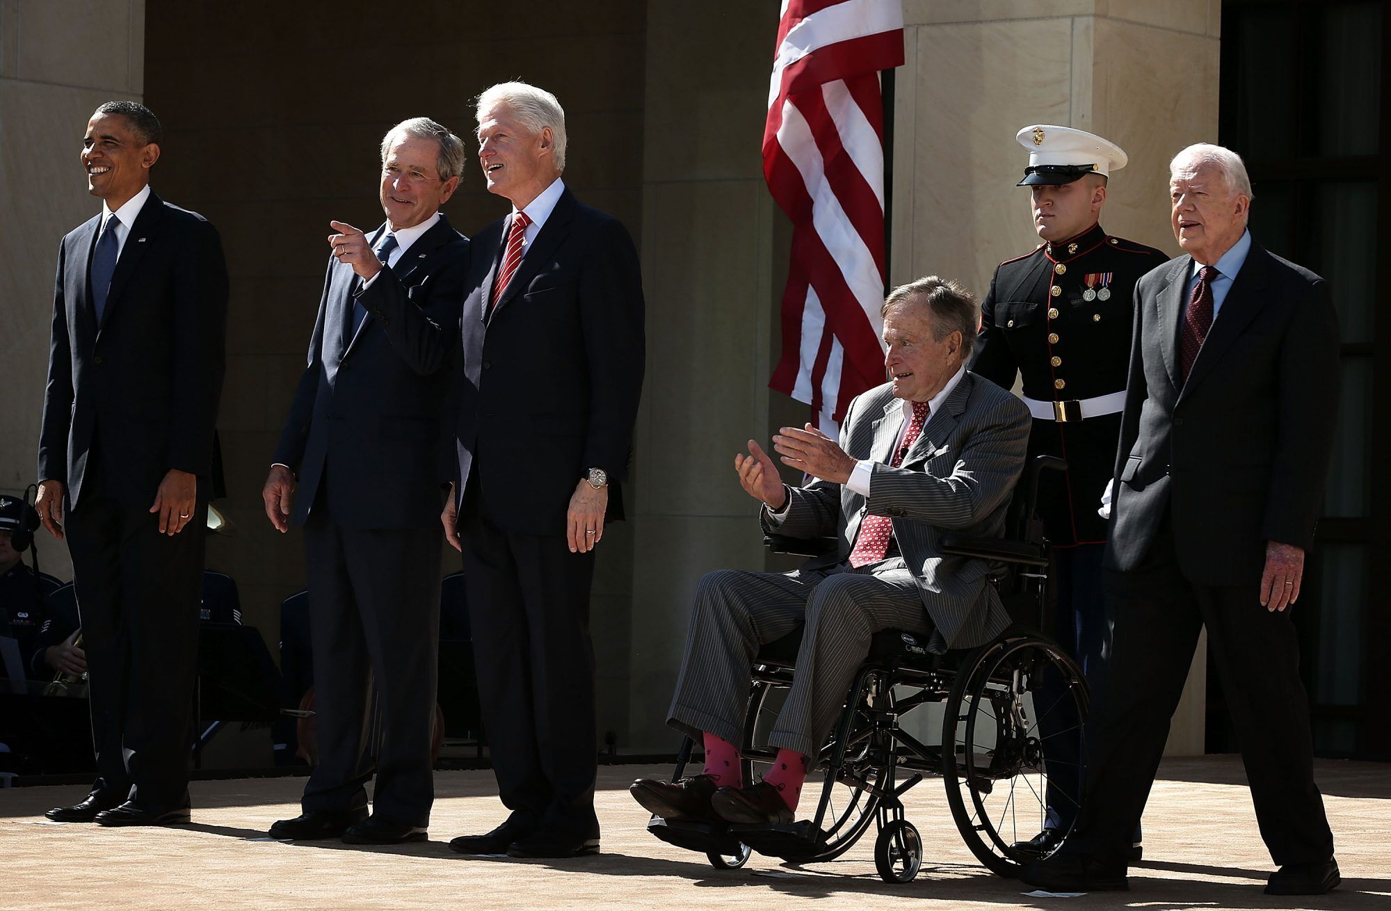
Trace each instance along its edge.
<path fill-rule="evenodd" d="M 440 206 L 462 170 L 458 136 L 403 121 L 381 142 L 385 224 L 369 238 L 331 223 L 309 364 L 262 491 L 275 529 L 305 526 L 319 720 L 303 812 L 273 825 L 277 839 L 395 844 L 430 825 L 449 371 L 416 370 L 359 298 L 389 287 L 420 319 L 456 324 L 469 242 Z M 384 737 L 369 818 L 373 691 Z"/>

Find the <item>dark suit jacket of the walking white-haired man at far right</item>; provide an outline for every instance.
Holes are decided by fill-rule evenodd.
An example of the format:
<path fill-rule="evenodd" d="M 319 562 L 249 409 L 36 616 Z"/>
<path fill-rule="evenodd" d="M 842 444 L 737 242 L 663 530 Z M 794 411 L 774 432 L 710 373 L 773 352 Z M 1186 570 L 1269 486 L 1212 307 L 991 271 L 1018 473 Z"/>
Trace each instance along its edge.
<path fill-rule="evenodd" d="M 1167 509 L 1189 581 L 1253 587 L 1267 541 L 1313 544 L 1338 423 L 1338 317 L 1323 278 L 1252 243 L 1184 382 L 1192 263 L 1135 285 L 1106 565 L 1136 569 Z"/>

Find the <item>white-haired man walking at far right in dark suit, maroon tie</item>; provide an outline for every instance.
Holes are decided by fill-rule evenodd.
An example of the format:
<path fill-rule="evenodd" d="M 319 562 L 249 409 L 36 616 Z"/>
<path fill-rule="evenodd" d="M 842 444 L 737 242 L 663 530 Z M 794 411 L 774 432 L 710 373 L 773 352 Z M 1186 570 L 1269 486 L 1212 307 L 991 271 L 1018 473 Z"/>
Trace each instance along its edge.
<path fill-rule="evenodd" d="M 1196 145 L 1170 163 L 1185 255 L 1141 278 L 1111 503 L 1114 648 L 1088 723 L 1075 835 L 1024 880 L 1125 889 L 1124 850 L 1207 627 L 1280 869 L 1270 894 L 1338 885 L 1313 780 L 1289 608 L 1333 452 L 1338 324 L 1327 284 L 1246 231 L 1241 159 Z"/>

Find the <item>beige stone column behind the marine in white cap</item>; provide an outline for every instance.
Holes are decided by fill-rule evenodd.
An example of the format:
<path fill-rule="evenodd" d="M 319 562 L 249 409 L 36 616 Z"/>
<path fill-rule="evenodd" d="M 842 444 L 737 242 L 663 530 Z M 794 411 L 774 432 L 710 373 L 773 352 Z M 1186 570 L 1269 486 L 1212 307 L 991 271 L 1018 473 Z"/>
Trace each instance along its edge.
<path fill-rule="evenodd" d="M 1129 153 L 1110 179 L 1107 231 L 1178 253 L 1168 159 L 1217 139 L 1220 0 L 906 0 L 894 104 L 893 281 L 931 273 L 983 293 L 1038 239 L 1014 186 L 1014 134 L 1060 124 Z M 1202 752 L 1206 640 L 1168 751 Z"/>

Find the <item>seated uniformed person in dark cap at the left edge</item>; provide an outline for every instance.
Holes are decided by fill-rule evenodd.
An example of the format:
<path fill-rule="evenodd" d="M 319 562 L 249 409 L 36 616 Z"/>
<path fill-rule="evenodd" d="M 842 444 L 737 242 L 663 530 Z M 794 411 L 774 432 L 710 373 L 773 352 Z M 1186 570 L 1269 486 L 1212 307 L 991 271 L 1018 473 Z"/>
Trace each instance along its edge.
<path fill-rule="evenodd" d="M 29 569 L 22 559 L 38 527 L 39 515 L 29 503 L 18 497 L 0 497 L 0 636 L 18 641 L 25 676 L 33 680 L 53 676 L 45 665 L 39 636 L 51 616 L 53 594 L 63 587 L 53 576 Z M 4 676 L 3 665 L 0 676 Z"/>

